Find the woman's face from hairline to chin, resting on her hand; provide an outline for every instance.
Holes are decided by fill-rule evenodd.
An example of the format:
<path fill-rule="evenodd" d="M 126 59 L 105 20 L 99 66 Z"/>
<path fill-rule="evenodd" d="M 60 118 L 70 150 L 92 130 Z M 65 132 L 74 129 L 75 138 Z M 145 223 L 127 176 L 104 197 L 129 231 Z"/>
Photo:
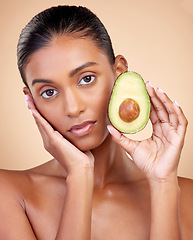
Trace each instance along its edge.
<path fill-rule="evenodd" d="M 82 151 L 104 141 L 116 74 L 92 40 L 53 40 L 30 56 L 25 76 L 37 109 L 65 138 Z"/>

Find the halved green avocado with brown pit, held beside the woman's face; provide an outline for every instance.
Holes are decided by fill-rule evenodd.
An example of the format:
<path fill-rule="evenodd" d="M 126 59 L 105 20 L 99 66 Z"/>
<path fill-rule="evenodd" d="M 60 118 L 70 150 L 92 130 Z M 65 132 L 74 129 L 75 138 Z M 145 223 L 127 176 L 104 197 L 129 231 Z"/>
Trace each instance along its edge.
<path fill-rule="evenodd" d="M 122 73 L 115 82 L 109 103 L 112 125 L 122 133 L 136 133 L 146 126 L 150 106 L 142 77 L 135 72 Z"/>

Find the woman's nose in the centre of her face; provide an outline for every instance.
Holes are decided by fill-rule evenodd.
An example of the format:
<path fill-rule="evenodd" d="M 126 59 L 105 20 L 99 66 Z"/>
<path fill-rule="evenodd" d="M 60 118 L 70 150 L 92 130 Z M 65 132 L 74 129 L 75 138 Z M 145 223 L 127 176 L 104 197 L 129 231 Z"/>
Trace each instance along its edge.
<path fill-rule="evenodd" d="M 68 89 L 65 92 L 64 110 L 67 117 L 78 117 L 85 111 L 85 105 L 76 90 Z"/>

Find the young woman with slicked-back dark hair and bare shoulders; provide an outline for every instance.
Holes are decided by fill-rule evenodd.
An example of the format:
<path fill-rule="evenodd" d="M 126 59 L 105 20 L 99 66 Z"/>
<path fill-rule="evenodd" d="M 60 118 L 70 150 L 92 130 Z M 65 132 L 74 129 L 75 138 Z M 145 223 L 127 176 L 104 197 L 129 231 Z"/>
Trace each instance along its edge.
<path fill-rule="evenodd" d="M 151 138 L 132 141 L 110 125 L 109 98 L 127 61 L 92 12 L 58 6 L 35 16 L 21 33 L 18 67 L 54 159 L 1 170 L 0 239 L 193 239 L 193 183 L 177 177 L 187 120 L 147 82 Z"/>

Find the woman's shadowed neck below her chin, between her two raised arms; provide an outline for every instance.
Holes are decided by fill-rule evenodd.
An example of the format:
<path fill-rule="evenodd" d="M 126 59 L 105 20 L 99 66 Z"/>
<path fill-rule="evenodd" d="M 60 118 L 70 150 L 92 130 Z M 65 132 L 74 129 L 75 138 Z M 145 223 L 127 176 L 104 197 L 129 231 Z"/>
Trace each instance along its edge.
<path fill-rule="evenodd" d="M 92 150 L 92 154 L 95 157 L 94 174 L 97 187 L 144 178 L 125 151 L 112 140 L 110 134 L 98 148 Z"/>

